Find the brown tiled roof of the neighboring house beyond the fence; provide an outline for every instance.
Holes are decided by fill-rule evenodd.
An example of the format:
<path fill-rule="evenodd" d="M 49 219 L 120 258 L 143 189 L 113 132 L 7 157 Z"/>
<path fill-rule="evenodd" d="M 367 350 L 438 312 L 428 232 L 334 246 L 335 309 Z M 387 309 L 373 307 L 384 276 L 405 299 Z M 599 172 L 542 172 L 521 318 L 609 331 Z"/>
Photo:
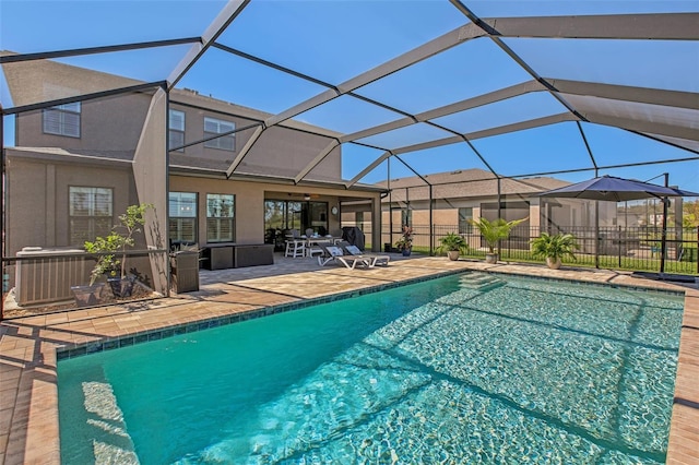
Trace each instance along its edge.
<path fill-rule="evenodd" d="M 433 199 L 491 198 L 498 194 L 498 181 L 483 169 L 472 168 L 452 172 L 439 172 L 424 177 L 433 184 Z M 560 179 L 536 177 L 524 179 L 501 178 L 500 194 L 525 198 L 530 194 L 568 186 Z M 387 188 L 387 182 L 379 186 Z M 384 202 L 429 200 L 429 187 L 419 177 L 392 179 L 391 198 Z M 407 190 L 407 192 L 406 192 Z"/>

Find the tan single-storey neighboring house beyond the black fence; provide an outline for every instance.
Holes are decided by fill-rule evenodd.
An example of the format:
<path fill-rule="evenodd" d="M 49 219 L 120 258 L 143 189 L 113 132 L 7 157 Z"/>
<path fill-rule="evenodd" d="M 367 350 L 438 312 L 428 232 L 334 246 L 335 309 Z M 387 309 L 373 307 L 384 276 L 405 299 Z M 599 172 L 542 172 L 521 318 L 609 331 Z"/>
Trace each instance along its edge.
<path fill-rule="evenodd" d="M 473 229 L 470 220 L 479 217 L 500 217 L 508 222 L 528 218 L 518 228 L 526 236 L 530 230 L 540 228 L 556 233 L 570 227 L 594 225 L 594 202 L 574 199 L 543 200 L 537 196 L 541 192 L 570 183 L 560 179 L 533 177 L 498 180 L 493 174 L 477 168 L 427 175 L 423 178 L 415 176 L 379 183 L 381 188 L 391 190 L 381 202 L 382 224 L 386 231 L 393 233 L 393 241 L 402 225 L 410 224 L 419 235 L 420 227 L 430 225 L 430 217 L 437 236 L 454 228 L 460 234 L 471 234 Z M 431 198 L 430 186 L 426 181 L 431 186 Z M 616 204 L 601 202 L 600 205 L 601 224 L 612 224 Z M 428 242 L 419 242 L 419 236 L 415 240 L 417 245 L 428 246 Z M 388 235 L 384 235 L 383 241 L 389 241 Z M 526 241 L 522 243 L 525 245 Z"/>

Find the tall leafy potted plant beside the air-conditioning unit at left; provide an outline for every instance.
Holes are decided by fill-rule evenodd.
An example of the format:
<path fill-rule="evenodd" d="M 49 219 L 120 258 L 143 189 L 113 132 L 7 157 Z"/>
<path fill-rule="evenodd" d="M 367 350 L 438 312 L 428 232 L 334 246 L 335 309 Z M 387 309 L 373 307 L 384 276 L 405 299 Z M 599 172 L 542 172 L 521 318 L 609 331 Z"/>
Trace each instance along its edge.
<path fill-rule="evenodd" d="M 126 213 L 119 215 L 119 224 L 111 228 L 106 237 L 96 237 L 85 241 L 85 251 L 97 254 L 97 262 L 90 273 L 90 284 L 106 276 L 115 297 L 130 297 L 135 276 L 127 275 L 127 248 L 133 247 L 133 235 L 141 231 L 145 223 L 145 211 L 151 204 L 129 205 Z"/>

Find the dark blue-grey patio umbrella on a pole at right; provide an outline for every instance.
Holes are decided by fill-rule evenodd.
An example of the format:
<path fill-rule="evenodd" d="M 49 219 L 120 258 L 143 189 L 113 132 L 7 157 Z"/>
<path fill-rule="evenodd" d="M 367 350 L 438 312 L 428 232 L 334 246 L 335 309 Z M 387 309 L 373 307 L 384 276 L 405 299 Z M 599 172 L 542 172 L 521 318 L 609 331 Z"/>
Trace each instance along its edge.
<path fill-rule="evenodd" d="M 628 200 L 640 199 L 666 199 L 668 196 L 699 196 L 699 193 L 651 184 L 650 182 L 637 181 L 635 179 L 617 178 L 614 176 L 601 176 L 588 181 L 577 182 L 564 188 L 554 189 L 542 192 L 538 196 L 545 198 L 567 198 L 567 199 L 587 199 L 604 202 L 625 202 Z M 665 234 L 667 224 L 667 203 L 663 202 L 663 230 L 662 246 L 660 251 L 660 273 L 665 271 Z M 599 234 L 599 218 L 595 214 L 595 229 Z M 595 261 L 597 257 L 597 241 L 595 240 Z"/>

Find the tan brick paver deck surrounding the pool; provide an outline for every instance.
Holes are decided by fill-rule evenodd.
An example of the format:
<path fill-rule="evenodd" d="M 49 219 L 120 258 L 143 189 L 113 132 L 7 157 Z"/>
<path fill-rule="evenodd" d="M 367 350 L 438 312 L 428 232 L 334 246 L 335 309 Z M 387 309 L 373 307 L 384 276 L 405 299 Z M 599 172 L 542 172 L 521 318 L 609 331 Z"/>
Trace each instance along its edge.
<path fill-rule="evenodd" d="M 0 464 L 59 464 L 57 347 L 80 346 L 280 303 L 358 290 L 457 270 L 546 276 L 685 291 L 667 463 L 699 464 L 699 288 L 627 273 L 445 258 L 393 257 L 388 269 L 319 267 L 275 258 L 270 266 L 202 271 L 199 293 L 117 307 L 7 320 L 0 324 Z"/>

